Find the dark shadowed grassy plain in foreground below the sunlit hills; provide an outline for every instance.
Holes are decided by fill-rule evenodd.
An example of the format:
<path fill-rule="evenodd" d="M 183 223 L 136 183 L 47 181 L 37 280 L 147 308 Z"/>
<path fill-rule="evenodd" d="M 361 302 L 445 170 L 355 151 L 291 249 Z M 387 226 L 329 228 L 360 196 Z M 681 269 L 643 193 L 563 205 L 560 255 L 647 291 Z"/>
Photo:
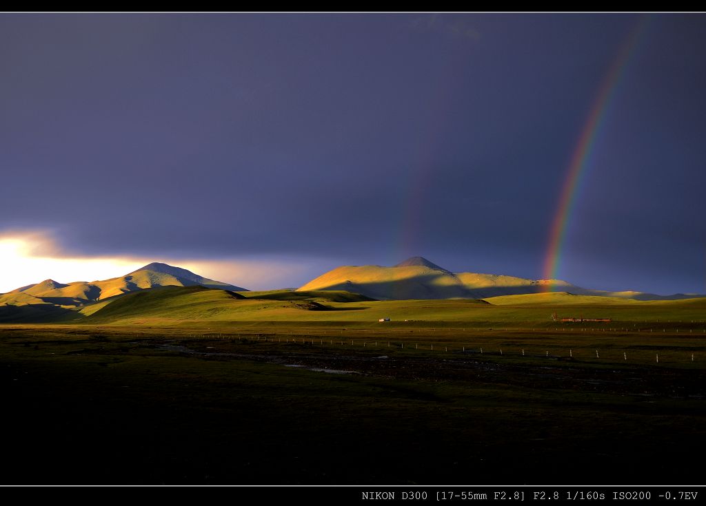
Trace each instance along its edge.
<path fill-rule="evenodd" d="M 283 328 L 0 328 L 1 483 L 702 481 L 698 335 Z"/>

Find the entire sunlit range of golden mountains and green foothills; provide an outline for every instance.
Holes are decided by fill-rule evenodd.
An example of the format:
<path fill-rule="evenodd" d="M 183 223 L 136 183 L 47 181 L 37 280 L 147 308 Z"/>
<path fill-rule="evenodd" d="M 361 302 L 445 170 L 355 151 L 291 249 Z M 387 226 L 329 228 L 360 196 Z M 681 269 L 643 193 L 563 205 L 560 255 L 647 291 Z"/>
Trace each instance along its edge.
<path fill-rule="evenodd" d="M 547 292 L 550 283 L 554 291 Z M 701 311 L 706 299 L 693 297 L 586 290 L 561 280 L 452 273 L 422 257 L 393 267 L 337 267 L 297 290 L 250 292 L 155 262 L 118 278 L 90 283 L 47 279 L 0 294 L 0 323 L 370 323 L 390 317 L 394 321 L 486 324 L 491 319 L 529 316 L 544 321 L 546 308 L 556 311 L 561 307 L 571 314 L 576 312 L 571 307 L 582 307 L 578 314 L 585 310 L 610 317 L 630 316 L 634 311 L 642 314 L 648 307 L 662 317 L 674 311 Z M 682 304 L 675 304 L 680 300 Z"/>

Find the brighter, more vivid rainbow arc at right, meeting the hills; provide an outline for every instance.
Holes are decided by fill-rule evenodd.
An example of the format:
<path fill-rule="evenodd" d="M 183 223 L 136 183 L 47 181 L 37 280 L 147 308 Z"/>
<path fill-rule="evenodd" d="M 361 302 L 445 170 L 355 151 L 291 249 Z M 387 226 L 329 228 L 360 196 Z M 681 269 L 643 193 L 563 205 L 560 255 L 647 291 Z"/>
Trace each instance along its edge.
<path fill-rule="evenodd" d="M 559 195 L 556 214 L 549 230 L 549 242 L 546 248 L 542 276 L 544 279 L 558 278 L 563 259 L 564 243 L 566 242 L 566 230 L 573 216 L 578 190 L 582 180 L 585 178 L 586 169 L 590 165 L 591 154 L 594 151 L 596 140 L 599 137 L 607 112 L 616 94 L 616 89 L 621 83 L 628 63 L 630 63 L 630 58 L 635 54 L 635 49 L 638 47 L 638 43 L 649 22 L 650 18 L 643 16 L 630 30 L 599 87 L 588 118 L 583 125 L 581 135 L 571 156 L 566 180 L 564 180 L 561 194 Z M 549 291 L 552 287 L 548 283 L 543 288 L 545 291 Z"/>

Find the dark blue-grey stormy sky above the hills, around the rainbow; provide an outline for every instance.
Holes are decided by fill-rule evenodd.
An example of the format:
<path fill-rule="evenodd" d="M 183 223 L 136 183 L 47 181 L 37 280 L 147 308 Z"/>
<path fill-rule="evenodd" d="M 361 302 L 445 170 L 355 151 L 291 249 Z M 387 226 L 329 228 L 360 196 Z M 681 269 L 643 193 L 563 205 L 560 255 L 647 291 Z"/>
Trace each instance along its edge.
<path fill-rule="evenodd" d="M 0 235 L 277 265 L 220 276 L 247 288 L 412 255 L 541 278 L 571 156 L 643 23 L 558 275 L 704 293 L 706 17 L 644 17 L 1 14 Z"/>

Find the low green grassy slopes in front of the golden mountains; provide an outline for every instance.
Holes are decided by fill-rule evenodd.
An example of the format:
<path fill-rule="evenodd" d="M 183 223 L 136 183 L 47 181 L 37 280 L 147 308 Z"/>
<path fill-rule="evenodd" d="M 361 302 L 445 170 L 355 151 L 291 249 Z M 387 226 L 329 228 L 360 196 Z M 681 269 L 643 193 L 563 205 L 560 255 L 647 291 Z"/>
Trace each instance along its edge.
<path fill-rule="evenodd" d="M 644 326 L 705 319 L 706 300 L 641 302 L 570 294 L 493 297 L 485 300 L 361 300 L 346 292 L 246 292 L 199 286 L 143 290 L 80 309 L 85 323 L 227 327 L 231 323 L 277 323 L 366 328 L 548 328 L 561 317 L 609 318 L 594 326 Z M 495 302 L 497 302 L 497 304 Z M 378 322 L 389 318 L 390 321 Z M 694 323 L 696 325 L 696 323 Z M 563 323 L 567 328 L 573 323 Z M 213 327 L 215 326 L 215 327 Z M 697 325 L 698 327 L 698 325 Z M 696 328 L 696 327 L 695 327 Z"/>

